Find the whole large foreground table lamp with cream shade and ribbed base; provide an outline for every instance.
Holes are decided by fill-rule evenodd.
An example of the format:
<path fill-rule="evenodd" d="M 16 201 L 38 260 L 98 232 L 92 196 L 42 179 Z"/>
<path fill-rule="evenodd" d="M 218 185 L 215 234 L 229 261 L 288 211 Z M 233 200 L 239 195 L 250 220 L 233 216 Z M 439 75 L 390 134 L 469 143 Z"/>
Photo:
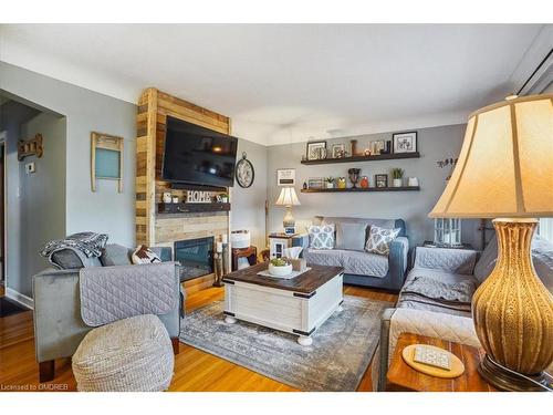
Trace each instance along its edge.
<path fill-rule="evenodd" d="M 469 116 L 457 166 L 432 218 L 493 218 L 495 268 L 472 298 L 486 356 L 480 374 L 505 391 L 539 391 L 553 361 L 553 295 L 532 264 L 538 217 L 553 216 L 553 94 Z"/>

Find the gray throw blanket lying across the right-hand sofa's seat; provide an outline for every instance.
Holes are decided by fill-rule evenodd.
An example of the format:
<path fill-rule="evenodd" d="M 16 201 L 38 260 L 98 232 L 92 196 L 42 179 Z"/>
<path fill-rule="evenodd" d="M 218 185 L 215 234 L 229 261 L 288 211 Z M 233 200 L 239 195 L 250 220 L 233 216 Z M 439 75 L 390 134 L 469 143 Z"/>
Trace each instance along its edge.
<path fill-rule="evenodd" d="M 401 302 L 418 302 L 446 309 L 470 312 L 476 291 L 471 281 L 444 282 L 434 278 L 416 277 L 401 289 Z"/>

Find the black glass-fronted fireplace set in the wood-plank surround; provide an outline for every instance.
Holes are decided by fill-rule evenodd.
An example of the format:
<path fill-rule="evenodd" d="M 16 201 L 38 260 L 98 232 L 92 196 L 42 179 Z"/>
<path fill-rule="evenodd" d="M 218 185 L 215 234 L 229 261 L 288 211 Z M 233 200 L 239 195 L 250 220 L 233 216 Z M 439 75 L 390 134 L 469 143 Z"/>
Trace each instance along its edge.
<path fill-rule="evenodd" d="M 181 266 L 181 281 L 213 272 L 213 237 L 175 242 L 175 261 Z"/>

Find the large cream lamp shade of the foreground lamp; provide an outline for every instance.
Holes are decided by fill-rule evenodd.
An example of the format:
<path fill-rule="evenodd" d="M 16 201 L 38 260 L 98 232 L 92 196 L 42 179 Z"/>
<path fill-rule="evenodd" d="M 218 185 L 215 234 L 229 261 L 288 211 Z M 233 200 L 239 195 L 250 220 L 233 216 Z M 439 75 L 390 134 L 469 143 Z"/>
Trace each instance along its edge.
<path fill-rule="evenodd" d="M 469 116 L 451 179 L 430 217 L 553 216 L 553 94 Z"/>

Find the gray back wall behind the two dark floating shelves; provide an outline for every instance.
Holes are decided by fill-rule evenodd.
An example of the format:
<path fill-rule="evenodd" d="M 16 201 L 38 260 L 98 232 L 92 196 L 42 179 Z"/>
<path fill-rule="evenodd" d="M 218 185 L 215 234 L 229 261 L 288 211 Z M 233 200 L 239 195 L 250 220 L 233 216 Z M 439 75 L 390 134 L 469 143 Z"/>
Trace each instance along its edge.
<path fill-rule="evenodd" d="M 276 186 L 278 168 L 295 168 L 296 186 L 301 206 L 293 208 L 296 226 L 303 231 L 315 215 L 352 216 L 368 218 L 403 218 L 407 222 L 407 232 L 411 245 L 419 245 L 425 239 L 434 238 L 434 220 L 428 218 L 439 196 L 441 195 L 448 168 L 439 168 L 436 162 L 453 157 L 461 148 L 465 125 L 449 125 L 418 129 L 418 149 L 420 158 L 404 160 L 380 160 L 347 164 L 326 164 L 306 166 L 300 163 L 305 154 L 305 143 L 271 146 L 268 148 L 268 199 L 269 231 L 282 229 L 284 208 L 274 206 L 279 196 Z M 373 134 L 355 137 L 357 148 L 365 148 L 369 141 L 392 139 L 392 133 Z M 327 141 L 327 148 L 333 143 L 346 143 L 349 149 L 349 138 Z M 347 169 L 358 167 L 362 175 L 368 176 L 374 186 L 375 174 L 390 174 L 394 167 L 405 169 L 405 177 L 416 176 L 420 183 L 420 191 L 397 193 L 358 193 L 358 194 L 301 194 L 303 181 L 309 177 L 346 176 Z M 388 178 L 389 181 L 389 178 Z M 463 241 L 479 247 L 478 235 L 474 231 L 476 221 L 463 221 Z"/>

